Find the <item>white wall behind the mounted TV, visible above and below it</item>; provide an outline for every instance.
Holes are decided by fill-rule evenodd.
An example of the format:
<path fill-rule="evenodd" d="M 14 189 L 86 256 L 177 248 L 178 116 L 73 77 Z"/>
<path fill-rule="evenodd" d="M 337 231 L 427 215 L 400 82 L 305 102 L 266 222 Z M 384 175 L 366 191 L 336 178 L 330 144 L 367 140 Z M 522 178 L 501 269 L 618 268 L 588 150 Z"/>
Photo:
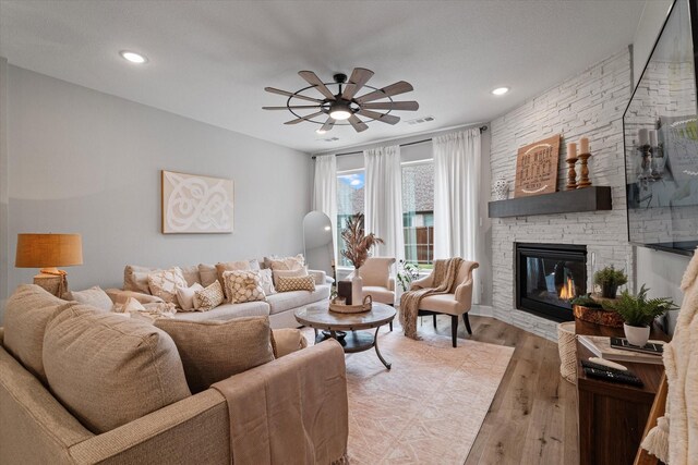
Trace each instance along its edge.
<path fill-rule="evenodd" d="M 642 17 L 633 40 L 634 86 L 640 78 L 672 3 L 673 0 L 647 0 L 645 2 Z M 679 284 L 688 261 L 689 257 L 636 247 L 638 289 L 645 283 L 650 287 L 652 296 L 667 296 L 672 297 L 674 302 L 681 303 L 684 295 Z M 674 325 L 675 313 L 670 318 L 670 330 L 673 330 Z"/>

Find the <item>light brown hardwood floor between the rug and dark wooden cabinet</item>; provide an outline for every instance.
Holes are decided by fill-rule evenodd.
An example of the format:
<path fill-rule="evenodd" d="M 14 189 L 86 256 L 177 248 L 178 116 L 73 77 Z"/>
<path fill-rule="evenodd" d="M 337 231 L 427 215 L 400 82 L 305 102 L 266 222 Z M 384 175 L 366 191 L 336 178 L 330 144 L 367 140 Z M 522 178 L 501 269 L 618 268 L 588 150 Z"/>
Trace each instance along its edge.
<path fill-rule="evenodd" d="M 516 347 L 465 465 L 576 465 L 577 390 L 559 376 L 557 344 L 489 317 L 462 320 L 458 336 Z M 433 331 L 424 317 L 420 331 Z M 436 332 L 450 335 L 450 318 Z M 458 431 L 453 432 L 458 436 Z"/>

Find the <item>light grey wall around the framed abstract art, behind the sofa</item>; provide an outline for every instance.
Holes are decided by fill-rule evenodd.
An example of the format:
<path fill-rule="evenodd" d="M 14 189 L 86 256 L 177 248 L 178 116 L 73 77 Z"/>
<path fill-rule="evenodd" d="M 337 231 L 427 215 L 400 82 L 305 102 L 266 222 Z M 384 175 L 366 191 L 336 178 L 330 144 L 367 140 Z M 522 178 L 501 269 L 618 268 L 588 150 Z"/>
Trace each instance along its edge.
<path fill-rule="evenodd" d="M 120 286 L 127 264 L 302 252 L 309 155 L 12 65 L 7 77 L 9 235 L 0 246 L 9 259 L 0 272 L 10 290 L 37 272 L 14 268 L 23 232 L 83 235 L 84 265 L 67 269 L 72 289 Z M 234 233 L 161 234 L 160 170 L 232 179 Z M 0 176 L 0 200 L 2 187 Z"/>

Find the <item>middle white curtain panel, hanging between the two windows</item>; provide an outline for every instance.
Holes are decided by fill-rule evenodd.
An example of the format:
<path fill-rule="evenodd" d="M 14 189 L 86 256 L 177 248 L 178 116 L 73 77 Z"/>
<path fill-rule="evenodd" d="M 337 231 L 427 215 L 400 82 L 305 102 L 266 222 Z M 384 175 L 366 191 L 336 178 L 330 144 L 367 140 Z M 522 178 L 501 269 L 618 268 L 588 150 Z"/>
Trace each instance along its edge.
<path fill-rule="evenodd" d="M 363 151 L 366 167 L 365 230 L 385 244 L 378 244 L 374 256 L 405 258 L 402 236 L 402 167 L 400 146 L 378 147 Z"/>

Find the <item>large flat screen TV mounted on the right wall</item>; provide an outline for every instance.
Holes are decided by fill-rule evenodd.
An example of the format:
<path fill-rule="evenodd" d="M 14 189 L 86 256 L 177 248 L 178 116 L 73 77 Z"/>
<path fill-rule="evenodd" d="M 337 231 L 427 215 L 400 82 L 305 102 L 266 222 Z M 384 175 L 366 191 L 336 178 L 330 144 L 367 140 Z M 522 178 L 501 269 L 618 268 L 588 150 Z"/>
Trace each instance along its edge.
<path fill-rule="evenodd" d="M 684 255 L 698 246 L 697 3 L 674 1 L 623 114 L 628 238 Z"/>

